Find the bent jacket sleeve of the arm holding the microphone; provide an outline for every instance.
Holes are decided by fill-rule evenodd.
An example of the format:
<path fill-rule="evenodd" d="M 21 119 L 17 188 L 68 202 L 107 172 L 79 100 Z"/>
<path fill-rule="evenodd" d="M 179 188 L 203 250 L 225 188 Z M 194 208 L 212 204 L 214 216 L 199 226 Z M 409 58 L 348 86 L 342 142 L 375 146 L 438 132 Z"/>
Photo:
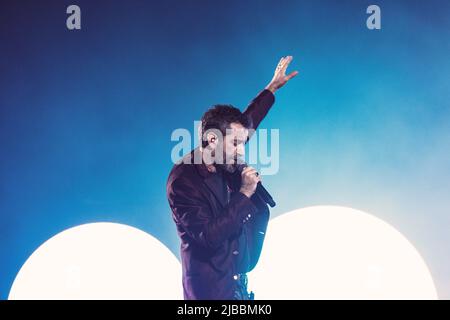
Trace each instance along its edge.
<path fill-rule="evenodd" d="M 173 218 L 184 232 L 198 245 L 209 249 L 219 247 L 239 231 L 244 219 L 257 211 L 253 202 L 244 194 L 231 196 L 223 212 L 214 216 L 208 199 L 190 182 L 178 178 L 168 189 Z"/>

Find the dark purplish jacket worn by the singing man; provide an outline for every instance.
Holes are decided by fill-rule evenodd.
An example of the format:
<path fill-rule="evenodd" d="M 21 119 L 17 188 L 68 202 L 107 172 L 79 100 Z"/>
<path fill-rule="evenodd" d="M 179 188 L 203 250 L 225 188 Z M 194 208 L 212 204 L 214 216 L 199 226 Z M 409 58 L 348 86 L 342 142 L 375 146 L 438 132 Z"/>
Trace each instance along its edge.
<path fill-rule="evenodd" d="M 247 107 L 244 113 L 255 129 L 273 103 L 273 94 L 264 90 Z M 167 181 L 181 238 L 184 298 L 229 300 L 237 285 L 234 276 L 258 262 L 269 209 L 256 195 L 249 199 L 239 192 L 239 174 L 211 173 L 203 163 L 194 164 L 198 152 L 177 163 Z"/>

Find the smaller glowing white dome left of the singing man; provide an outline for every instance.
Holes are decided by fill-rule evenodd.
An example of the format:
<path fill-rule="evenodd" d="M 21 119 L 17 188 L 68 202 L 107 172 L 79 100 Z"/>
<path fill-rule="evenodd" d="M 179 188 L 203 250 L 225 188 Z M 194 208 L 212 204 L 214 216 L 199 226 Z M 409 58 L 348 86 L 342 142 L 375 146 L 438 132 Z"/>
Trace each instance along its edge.
<path fill-rule="evenodd" d="M 181 266 L 151 235 L 116 223 L 65 230 L 25 262 L 9 299 L 182 299 Z"/>

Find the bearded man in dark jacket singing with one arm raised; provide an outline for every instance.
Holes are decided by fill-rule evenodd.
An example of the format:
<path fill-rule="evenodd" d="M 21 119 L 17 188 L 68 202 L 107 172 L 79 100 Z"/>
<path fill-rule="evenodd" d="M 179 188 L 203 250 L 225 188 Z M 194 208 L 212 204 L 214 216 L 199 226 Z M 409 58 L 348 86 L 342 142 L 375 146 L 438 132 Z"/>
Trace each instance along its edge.
<path fill-rule="evenodd" d="M 241 170 L 238 159 L 275 91 L 297 75 L 286 75 L 291 61 L 292 56 L 281 58 L 270 83 L 243 113 L 231 105 L 206 111 L 201 147 L 169 174 L 167 198 L 181 239 L 185 299 L 253 299 L 246 273 L 258 262 L 269 208 L 255 194 L 260 176 L 249 166 Z"/>

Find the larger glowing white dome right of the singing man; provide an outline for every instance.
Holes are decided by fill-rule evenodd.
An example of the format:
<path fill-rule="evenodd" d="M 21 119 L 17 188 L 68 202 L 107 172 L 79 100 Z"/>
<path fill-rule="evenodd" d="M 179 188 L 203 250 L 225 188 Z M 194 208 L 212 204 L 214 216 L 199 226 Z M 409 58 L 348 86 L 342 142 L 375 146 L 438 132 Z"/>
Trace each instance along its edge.
<path fill-rule="evenodd" d="M 345 207 L 294 210 L 270 221 L 249 274 L 256 299 L 437 299 L 430 271 L 395 228 Z"/>

